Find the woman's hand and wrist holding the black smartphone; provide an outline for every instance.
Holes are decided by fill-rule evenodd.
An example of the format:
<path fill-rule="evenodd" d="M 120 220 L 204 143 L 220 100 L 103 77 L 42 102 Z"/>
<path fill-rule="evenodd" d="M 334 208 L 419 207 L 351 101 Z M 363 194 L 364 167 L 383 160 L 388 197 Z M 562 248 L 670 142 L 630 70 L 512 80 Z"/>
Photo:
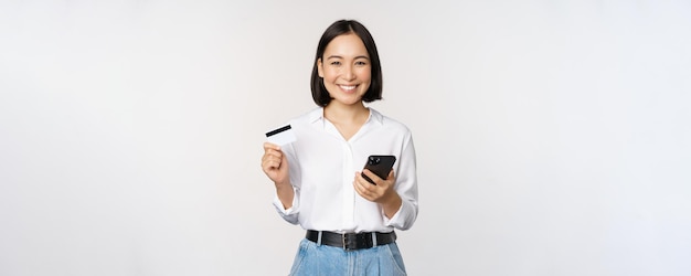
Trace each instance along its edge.
<path fill-rule="evenodd" d="M 368 169 L 362 170 L 362 173 L 368 176 L 375 184 L 370 183 L 360 174 L 360 172 L 355 172 L 355 181 L 353 183 L 355 191 L 365 200 L 382 204 L 384 208 L 384 214 L 391 219 L 396 212 L 398 212 L 402 204 L 401 197 L 393 189 L 396 183 L 393 170 L 389 172 L 386 179 L 379 178 Z"/>

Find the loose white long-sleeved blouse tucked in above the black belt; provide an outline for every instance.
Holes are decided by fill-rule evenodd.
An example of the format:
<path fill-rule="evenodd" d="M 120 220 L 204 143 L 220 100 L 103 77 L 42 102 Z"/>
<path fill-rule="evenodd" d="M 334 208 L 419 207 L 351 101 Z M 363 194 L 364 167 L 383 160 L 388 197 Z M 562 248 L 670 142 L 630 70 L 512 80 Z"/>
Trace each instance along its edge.
<path fill-rule="evenodd" d="M 350 140 L 323 117 L 323 108 L 288 124 L 297 137 L 281 147 L 295 190 L 293 206 L 286 210 L 278 195 L 274 198 L 286 221 L 305 230 L 338 233 L 391 232 L 413 225 L 417 217 L 417 174 L 413 137 L 405 125 L 373 108 Z M 391 219 L 379 203 L 363 199 L 353 188 L 355 171 L 362 171 L 370 155 L 396 157 L 394 190 L 403 203 Z"/>

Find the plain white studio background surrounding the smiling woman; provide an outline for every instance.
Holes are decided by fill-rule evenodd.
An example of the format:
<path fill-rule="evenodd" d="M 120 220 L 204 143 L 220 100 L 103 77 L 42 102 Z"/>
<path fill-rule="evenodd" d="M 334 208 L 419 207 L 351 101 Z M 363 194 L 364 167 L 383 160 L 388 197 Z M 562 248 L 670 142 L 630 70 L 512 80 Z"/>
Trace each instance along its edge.
<path fill-rule="evenodd" d="M 688 1 L 2 1 L 0 275 L 286 275 L 264 131 L 373 33 L 411 275 L 691 275 Z"/>

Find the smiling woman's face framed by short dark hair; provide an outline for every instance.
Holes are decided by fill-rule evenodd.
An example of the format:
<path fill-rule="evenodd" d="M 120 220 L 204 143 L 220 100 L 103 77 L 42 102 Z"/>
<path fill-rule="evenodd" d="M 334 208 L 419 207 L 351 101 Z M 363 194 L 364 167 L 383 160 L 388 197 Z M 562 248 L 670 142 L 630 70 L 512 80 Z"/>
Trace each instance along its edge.
<path fill-rule="evenodd" d="M 319 76 L 333 100 L 343 105 L 360 104 L 372 82 L 370 55 L 354 33 L 336 36 L 317 61 Z"/>

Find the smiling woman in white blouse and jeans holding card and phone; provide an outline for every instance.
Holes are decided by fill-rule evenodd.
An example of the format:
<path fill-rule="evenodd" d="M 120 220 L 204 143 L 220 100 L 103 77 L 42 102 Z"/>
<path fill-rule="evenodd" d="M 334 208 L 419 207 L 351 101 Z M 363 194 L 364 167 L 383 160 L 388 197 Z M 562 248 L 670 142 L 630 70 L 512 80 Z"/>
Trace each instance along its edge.
<path fill-rule="evenodd" d="M 262 158 L 278 213 L 307 230 L 290 275 L 405 275 L 394 229 L 417 217 L 415 149 L 406 126 L 364 105 L 382 98 L 382 72 L 361 23 L 325 31 L 311 91 L 319 107 L 289 121 L 297 140 L 265 142 Z M 363 169 L 371 155 L 396 157 L 385 179 Z"/>

